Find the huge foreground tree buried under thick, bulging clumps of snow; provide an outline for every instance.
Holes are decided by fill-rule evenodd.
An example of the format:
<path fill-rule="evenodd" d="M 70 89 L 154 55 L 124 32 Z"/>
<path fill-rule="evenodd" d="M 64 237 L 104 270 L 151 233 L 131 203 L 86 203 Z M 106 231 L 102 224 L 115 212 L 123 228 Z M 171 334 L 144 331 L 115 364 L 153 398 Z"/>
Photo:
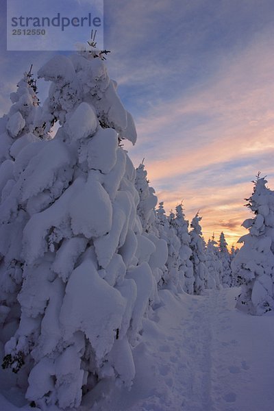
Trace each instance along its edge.
<path fill-rule="evenodd" d="M 51 81 L 44 112 L 61 126 L 16 157 L 0 207 L 2 226 L 14 224 L 1 253 L 15 265 L 20 256 L 12 275 L 1 271 L 1 290 L 21 310 L 3 366 L 25 373 L 26 398 L 40 408 L 77 408 L 101 379 L 132 383 L 155 245 L 142 234 L 136 171 L 119 147 L 136 141 L 134 123 L 103 62 L 59 55 L 38 75 Z M 12 304 L 4 297 L 3 328 Z"/>

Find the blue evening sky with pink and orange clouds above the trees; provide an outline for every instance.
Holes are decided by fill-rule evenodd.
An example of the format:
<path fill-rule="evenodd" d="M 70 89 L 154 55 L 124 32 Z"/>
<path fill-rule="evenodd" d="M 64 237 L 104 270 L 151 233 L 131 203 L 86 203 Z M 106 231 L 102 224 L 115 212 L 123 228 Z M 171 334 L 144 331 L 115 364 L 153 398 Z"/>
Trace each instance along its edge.
<path fill-rule="evenodd" d="M 73 1 L 92 5 L 69 0 L 68 12 Z M 125 148 L 135 166 L 145 158 L 167 213 L 182 201 L 188 220 L 199 210 L 206 240 L 246 234 L 258 171 L 274 189 L 273 19 L 273 0 L 104 1 L 106 64 L 138 132 Z M 2 1 L 0 115 L 23 71 L 56 53 L 6 51 L 5 21 Z"/>

